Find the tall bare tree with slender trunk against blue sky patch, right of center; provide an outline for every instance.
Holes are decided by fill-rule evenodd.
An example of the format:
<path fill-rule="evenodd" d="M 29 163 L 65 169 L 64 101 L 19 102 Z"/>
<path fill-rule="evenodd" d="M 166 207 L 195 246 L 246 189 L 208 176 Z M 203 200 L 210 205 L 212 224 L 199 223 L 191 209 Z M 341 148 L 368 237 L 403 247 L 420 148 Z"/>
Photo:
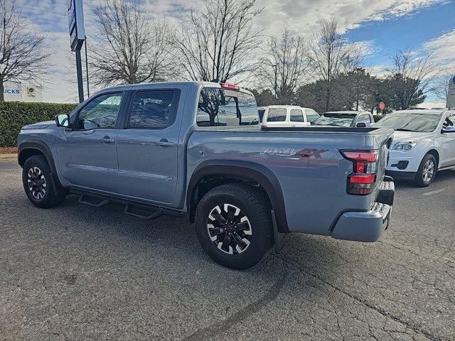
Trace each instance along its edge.
<path fill-rule="evenodd" d="M 328 110 L 333 95 L 333 80 L 360 65 L 360 50 L 338 33 L 336 20 L 324 20 L 311 37 L 309 58 L 316 80 L 325 84 L 325 107 Z"/>

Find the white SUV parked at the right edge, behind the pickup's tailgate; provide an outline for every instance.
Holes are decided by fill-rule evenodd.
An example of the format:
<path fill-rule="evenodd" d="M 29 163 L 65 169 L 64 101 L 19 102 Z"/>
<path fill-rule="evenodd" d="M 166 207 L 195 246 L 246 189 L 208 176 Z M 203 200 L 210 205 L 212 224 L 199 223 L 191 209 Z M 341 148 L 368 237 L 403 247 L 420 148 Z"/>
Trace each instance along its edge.
<path fill-rule="evenodd" d="M 395 129 L 387 174 L 431 184 L 437 171 L 455 168 L 455 110 L 402 110 L 376 122 Z"/>

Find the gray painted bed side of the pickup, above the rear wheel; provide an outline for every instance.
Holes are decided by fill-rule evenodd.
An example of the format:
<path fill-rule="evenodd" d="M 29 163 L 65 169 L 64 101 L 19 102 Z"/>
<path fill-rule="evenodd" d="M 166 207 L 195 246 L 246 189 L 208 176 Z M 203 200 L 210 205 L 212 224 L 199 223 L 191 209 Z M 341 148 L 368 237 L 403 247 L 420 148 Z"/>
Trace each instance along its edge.
<path fill-rule="evenodd" d="M 260 165 L 281 186 L 290 232 L 331 235 L 344 212 L 366 212 L 375 202 L 384 178 L 392 129 L 302 127 L 258 129 L 197 129 L 188 141 L 188 180 L 206 163 L 242 161 Z M 353 163 L 341 150 L 379 151 L 375 190 L 348 195 L 347 177 Z M 316 151 L 309 157 L 299 151 Z M 315 157 L 317 155 L 317 157 Z"/>

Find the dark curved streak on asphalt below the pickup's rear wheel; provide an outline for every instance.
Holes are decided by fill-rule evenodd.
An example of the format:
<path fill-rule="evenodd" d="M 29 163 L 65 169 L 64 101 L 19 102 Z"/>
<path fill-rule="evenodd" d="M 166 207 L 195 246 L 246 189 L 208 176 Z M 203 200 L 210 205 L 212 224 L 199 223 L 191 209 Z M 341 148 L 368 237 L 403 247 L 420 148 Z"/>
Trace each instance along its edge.
<path fill-rule="evenodd" d="M 230 315 L 225 320 L 220 320 L 220 322 L 213 323 L 207 328 L 196 330 L 196 332 L 193 332 L 193 334 L 184 338 L 183 341 L 213 340 L 213 336 L 229 330 L 234 325 L 237 325 L 237 323 L 240 323 L 242 320 L 251 317 L 253 314 L 257 313 L 266 305 L 274 301 L 274 299 L 279 295 L 279 292 L 282 290 L 286 279 L 287 274 L 284 274 L 282 278 L 274 283 L 274 285 L 259 298 L 259 300 L 250 303 L 249 305 L 245 306 L 245 308 L 238 310 L 237 313 Z"/>

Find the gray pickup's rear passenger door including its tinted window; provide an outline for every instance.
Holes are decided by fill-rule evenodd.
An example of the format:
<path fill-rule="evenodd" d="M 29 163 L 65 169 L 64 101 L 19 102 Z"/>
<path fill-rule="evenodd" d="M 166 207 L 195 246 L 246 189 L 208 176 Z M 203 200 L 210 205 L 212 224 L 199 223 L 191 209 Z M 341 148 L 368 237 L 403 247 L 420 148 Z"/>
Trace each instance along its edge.
<path fill-rule="evenodd" d="M 125 195 L 173 202 L 178 136 L 186 86 L 136 90 L 117 136 L 119 185 Z"/>

